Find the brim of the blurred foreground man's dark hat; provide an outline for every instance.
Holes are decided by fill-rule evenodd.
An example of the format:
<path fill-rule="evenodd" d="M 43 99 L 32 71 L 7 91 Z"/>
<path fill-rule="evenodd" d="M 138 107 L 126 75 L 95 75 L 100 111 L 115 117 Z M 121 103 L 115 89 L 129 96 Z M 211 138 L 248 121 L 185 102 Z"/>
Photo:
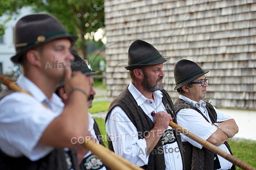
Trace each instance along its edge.
<path fill-rule="evenodd" d="M 12 56 L 11 57 L 11 60 L 12 62 L 14 63 L 20 63 L 20 57 L 26 53 L 26 51 L 28 51 L 29 49 L 32 49 L 32 48 L 35 48 L 39 45 L 43 45 L 47 42 L 50 42 L 52 40 L 56 40 L 56 39 L 61 39 L 61 38 L 67 38 L 70 40 L 71 44 L 73 45 L 76 40 L 77 40 L 77 36 L 75 35 L 72 35 L 72 34 L 58 34 L 58 35 L 55 35 L 55 36 L 52 36 L 52 37 L 49 37 L 47 38 L 47 40 L 45 40 L 44 42 L 41 42 L 41 43 L 38 43 L 38 44 L 35 44 L 35 45 L 31 45 L 31 46 L 28 46 L 27 49 L 24 49 L 23 51 L 20 51 L 19 53 L 17 53 L 16 55 Z"/>

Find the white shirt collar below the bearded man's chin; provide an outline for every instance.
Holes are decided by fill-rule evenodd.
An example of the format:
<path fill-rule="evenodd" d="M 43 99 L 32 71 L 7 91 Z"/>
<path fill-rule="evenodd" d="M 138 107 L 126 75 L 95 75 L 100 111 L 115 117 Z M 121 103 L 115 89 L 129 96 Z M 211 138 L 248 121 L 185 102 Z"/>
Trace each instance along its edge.
<path fill-rule="evenodd" d="M 149 100 L 145 96 L 143 96 L 143 94 L 141 94 L 140 91 L 138 91 L 138 89 L 132 84 L 131 81 L 128 86 L 128 90 L 130 91 L 130 93 L 134 97 L 134 99 L 136 100 L 138 106 L 142 105 L 146 100 Z M 153 96 L 155 99 L 157 97 L 160 97 L 160 98 L 163 97 L 161 91 L 154 91 Z"/>

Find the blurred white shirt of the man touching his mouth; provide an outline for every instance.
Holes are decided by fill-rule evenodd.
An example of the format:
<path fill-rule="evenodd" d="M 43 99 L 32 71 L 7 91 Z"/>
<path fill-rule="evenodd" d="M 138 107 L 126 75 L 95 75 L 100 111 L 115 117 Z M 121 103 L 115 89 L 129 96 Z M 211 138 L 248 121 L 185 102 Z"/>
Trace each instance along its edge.
<path fill-rule="evenodd" d="M 53 94 L 50 100 L 25 76 L 17 85 L 31 95 L 13 92 L 0 100 L 0 148 L 9 156 L 26 156 L 36 161 L 54 148 L 39 145 L 46 127 L 60 115 L 64 108 L 61 99 Z M 46 101 L 49 108 L 42 105 Z"/>

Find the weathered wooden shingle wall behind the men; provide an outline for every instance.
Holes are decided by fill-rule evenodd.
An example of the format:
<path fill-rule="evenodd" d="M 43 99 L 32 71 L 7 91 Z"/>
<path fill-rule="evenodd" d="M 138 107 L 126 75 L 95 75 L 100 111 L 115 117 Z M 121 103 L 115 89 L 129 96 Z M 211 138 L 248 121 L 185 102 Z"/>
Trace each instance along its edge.
<path fill-rule="evenodd" d="M 209 78 L 205 100 L 256 108 L 256 0 L 105 0 L 108 100 L 128 85 L 128 48 L 145 40 L 165 57 L 165 89 L 173 101 L 173 68 L 197 62 Z"/>

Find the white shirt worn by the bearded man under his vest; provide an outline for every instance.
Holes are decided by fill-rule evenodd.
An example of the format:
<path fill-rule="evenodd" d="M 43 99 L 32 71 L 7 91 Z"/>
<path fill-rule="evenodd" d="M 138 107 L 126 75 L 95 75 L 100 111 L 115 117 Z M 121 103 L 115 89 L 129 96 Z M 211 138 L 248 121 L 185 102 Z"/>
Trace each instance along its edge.
<path fill-rule="evenodd" d="M 155 91 L 153 93 L 154 100 L 147 99 L 138 91 L 130 82 L 128 90 L 137 102 L 138 107 L 148 115 L 154 122 L 154 117 L 151 116 L 152 111 L 155 113 L 165 111 L 166 109 L 162 102 L 162 93 Z M 128 104 L 127 104 L 128 105 Z M 168 127 L 172 129 L 172 127 Z M 146 140 L 139 139 L 137 128 L 120 107 L 115 107 L 108 116 L 106 122 L 106 131 L 112 140 L 113 148 L 116 154 L 124 157 L 128 161 L 141 167 L 148 164 L 148 156 L 146 154 Z M 183 164 L 178 149 L 177 142 L 163 145 L 166 170 L 182 170 Z"/>

